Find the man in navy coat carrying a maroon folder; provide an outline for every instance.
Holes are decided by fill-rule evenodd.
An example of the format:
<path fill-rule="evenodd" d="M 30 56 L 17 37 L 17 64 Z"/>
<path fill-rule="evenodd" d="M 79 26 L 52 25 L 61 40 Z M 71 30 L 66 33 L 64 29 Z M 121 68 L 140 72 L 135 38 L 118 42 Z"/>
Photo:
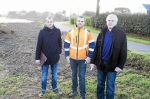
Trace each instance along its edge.
<path fill-rule="evenodd" d="M 36 57 L 35 60 L 40 64 L 40 54 L 43 54 L 47 57 L 45 63 L 42 65 L 42 76 L 41 76 L 41 93 L 39 97 L 42 97 L 46 91 L 47 86 L 47 76 L 49 65 L 51 67 L 52 75 L 52 90 L 58 94 L 61 92 L 57 89 L 57 70 L 58 70 L 58 61 L 59 54 L 62 50 L 62 41 L 61 41 L 61 32 L 58 28 L 54 26 L 53 18 L 47 17 L 45 20 L 44 28 L 39 32 L 37 47 L 36 47 Z"/>

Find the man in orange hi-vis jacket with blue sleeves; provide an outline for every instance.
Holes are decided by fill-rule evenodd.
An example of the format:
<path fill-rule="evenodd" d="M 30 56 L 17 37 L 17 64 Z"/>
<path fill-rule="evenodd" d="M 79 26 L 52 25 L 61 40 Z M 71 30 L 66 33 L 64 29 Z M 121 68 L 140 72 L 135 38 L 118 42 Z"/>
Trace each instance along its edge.
<path fill-rule="evenodd" d="M 90 63 L 95 48 L 94 37 L 89 30 L 84 28 L 84 24 L 85 17 L 79 16 L 77 18 L 76 27 L 68 32 L 64 43 L 65 57 L 72 70 L 72 92 L 69 94 L 69 97 L 73 97 L 77 94 L 77 73 L 79 73 L 81 99 L 85 99 L 86 97 L 86 64 Z"/>

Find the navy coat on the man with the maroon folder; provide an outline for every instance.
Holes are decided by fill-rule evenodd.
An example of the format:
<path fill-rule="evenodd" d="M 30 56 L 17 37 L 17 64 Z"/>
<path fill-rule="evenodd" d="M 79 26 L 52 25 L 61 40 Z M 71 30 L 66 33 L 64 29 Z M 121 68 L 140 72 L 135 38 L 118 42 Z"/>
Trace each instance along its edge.
<path fill-rule="evenodd" d="M 42 51 L 47 57 L 44 65 L 52 65 L 58 62 L 62 50 L 61 32 L 54 26 L 51 30 L 44 27 L 38 35 L 35 60 L 40 60 Z"/>

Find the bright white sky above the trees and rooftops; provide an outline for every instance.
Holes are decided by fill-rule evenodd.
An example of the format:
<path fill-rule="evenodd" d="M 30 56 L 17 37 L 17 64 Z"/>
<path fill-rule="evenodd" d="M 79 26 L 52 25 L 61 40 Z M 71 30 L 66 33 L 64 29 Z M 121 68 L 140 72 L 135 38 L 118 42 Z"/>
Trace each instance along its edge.
<path fill-rule="evenodd" d="M 36 11 L 36 12 L 62 12 L 66 15 L 76 13 L 83 14 L 85 11 L 96 12 L 97 0 L 0 0 L 0 14 L 9 11 Z M 150 0 L 100 0 L 100 13 L 114 11 L 116 7 L 126 7 L 131 12 L 145 10 L 142 4 L 150 4 Z"/>

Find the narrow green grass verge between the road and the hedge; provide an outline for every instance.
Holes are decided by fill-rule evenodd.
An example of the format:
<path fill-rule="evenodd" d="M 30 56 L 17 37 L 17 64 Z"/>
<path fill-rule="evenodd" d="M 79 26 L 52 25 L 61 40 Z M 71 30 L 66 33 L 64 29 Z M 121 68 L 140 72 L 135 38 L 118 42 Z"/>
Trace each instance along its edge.
<path fill-rule="evenodd" d="M 75 25 L 72 25 L 70 23 L 64 23 L 64 25 L 66 26 L 69 26 L 69 27 L 75 27 Z M 90 26 L 85 26 L 85 28 L 91 30 L 92 33 L 96 33 L 96 34 L 99 34 L 100 33 L 100 30 L 96 30 Z M 133 37 L 132 35 L 128 35 L 127 34 L 127 39 L 129 41 L 133 41 L 133 42 L 138 42 L 138 43 L 143 43 L 143 44 L 147 44 L 147 45 L 150 45 L 150 39 L 144 39 L 144 38 L 141 38 L 141 37 Z"/>

